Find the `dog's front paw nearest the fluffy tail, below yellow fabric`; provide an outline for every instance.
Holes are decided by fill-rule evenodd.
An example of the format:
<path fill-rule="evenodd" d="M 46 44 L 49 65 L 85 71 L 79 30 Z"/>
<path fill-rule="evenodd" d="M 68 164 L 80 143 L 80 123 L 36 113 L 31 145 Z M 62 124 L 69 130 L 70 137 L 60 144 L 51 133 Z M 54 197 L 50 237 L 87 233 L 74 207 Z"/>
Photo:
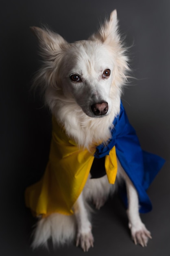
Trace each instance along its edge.
<path fill-rule="evenodd" d="M 84 252 L 87 252 L 90 247 L 93 247 L 94 238 L 92 232 L 88 233 L 78 233 L 76 246 L 80 245 Z"/>

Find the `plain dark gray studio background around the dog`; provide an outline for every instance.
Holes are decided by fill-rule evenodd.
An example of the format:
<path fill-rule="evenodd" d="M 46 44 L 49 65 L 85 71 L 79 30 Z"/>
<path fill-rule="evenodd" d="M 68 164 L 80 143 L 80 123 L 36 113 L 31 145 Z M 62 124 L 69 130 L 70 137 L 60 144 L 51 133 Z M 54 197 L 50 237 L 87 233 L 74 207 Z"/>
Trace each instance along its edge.
<path fill-rule="evenodd" d="M 66 40 L 87 39 L 113 9 L 126 35 L 132 79 L 122 100 L 142 148 L 167 162 L 148 190 L 153 211 L 142 215 L 153 239 L 135 246 L 124 207 L 113 198 L 93 216 L 89 256 L 170 255 L 170 1 L 9 0 L 0 8 L 0 255 L 84 255 L 74 245 L 30 249 L 34 220 L 24 206 L 26 186 L 41 177 L 48 160 L 50 113 L 29 92 L 40 66 L 29 26 L 47 24 Z"/>

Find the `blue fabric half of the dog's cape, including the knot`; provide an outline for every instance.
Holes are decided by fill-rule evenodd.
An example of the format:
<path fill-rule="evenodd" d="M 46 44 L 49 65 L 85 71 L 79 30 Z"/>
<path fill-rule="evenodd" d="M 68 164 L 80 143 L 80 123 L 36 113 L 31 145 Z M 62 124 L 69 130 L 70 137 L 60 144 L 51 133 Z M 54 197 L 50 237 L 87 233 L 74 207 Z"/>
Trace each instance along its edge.
<path fill-rule="evenodd" d="M 139 212 L 151 211 L 152 204 L 146 193 L 165 160 L 157 155 L 143 151 L 140 147 L 134 128 L 129 123 L 126 112 L 120 104 L 120 114 L 113 120 L 112 138 L 107 146 L 100 144 L 96 147 L 94 157 L 101 158 L 109 155 L 109 151 L 116 146 L 116 155 L 135 186 L 139 196 Z M 121 192 L 124 204 L 127 207 L 126 190 Z"/>

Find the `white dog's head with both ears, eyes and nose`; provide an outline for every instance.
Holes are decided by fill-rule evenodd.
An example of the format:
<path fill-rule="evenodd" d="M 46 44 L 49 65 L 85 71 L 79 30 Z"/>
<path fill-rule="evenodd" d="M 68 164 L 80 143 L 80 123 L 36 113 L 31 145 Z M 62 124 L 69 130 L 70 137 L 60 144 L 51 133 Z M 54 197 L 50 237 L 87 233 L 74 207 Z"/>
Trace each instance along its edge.
<path fill-rule="evenodd" d="M 125 49 L 118 34 L 116 10 L 98 33 L 88 40 L 66 42 L 59 34 L 32 27 L 44 58 L 37 80 L 74 99 L 89 117 L 109 115 L 120 97 L 128 70 Z"/>

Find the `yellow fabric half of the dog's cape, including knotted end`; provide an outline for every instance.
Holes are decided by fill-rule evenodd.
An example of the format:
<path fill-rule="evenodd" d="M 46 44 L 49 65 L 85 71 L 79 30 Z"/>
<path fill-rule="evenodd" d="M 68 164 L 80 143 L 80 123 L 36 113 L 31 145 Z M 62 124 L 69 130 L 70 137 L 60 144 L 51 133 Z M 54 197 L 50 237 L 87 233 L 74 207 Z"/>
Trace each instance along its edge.
<path fill-rule="evenodd" d="M 28 187 L 25 193 L 26 206 L 31 208 L 35 216 L 45 217 L 54 212 L 71 215 L 73 204 L 85 186 L 94 160 L 94 146 L 92 153 L 79 148 L 54 117 L 52 124 L 46 171 L 42 179 Z M 115 146 L 105 157 L 105 168 L 109 182 L 114 184 L 117 173 Z"/>

